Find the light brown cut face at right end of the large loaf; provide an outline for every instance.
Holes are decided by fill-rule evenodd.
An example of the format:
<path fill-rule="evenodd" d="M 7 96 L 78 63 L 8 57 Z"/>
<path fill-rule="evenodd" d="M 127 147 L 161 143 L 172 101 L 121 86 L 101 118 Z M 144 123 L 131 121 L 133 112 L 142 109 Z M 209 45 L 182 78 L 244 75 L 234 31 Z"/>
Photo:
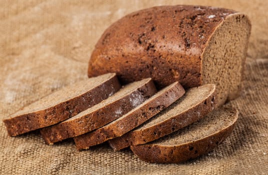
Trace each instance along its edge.
<path fill-rule="evenodd" d="M 215 29 L 202 53 L 202 84 L 216 84 L 217 106 L 238 95 L 250 28 L 246 15 L 230 14 Z"/>

